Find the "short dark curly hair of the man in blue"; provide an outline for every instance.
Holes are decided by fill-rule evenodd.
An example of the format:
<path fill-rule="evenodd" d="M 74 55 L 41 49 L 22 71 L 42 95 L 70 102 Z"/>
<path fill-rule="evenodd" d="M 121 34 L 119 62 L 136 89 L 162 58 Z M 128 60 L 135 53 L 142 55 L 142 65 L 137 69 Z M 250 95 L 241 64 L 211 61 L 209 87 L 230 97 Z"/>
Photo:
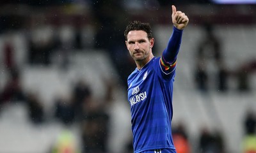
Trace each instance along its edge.
<path fill-rule="evenodd" d="M 127 34 L 129 33 L 129 31 L 140 31 L 140 30 L 145 31 L 147 33 L 148 40 L 153 38 L 150 24 L 142 23 L 140 21 L 134 20 L 127 25 L 127 27 L 124 31 L 125 40 L 127 40 Z"/>

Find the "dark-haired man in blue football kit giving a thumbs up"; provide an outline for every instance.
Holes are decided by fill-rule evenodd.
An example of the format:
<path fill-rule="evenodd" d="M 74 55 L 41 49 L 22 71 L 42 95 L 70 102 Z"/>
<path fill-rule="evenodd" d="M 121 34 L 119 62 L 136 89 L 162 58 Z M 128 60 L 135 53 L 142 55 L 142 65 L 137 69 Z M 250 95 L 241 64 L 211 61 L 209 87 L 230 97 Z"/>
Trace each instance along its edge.
<path fill-rule="evenodd" d="M 172 6 L 173 33 L 161 57 L 154 57 L 154 38 L 149 24 L 127 25 L 127 49 L 137 68 L 128 77 L 128 100 L 134 153 L 173 153 L 172 94 L 177 54 L 188 17 Z"/>

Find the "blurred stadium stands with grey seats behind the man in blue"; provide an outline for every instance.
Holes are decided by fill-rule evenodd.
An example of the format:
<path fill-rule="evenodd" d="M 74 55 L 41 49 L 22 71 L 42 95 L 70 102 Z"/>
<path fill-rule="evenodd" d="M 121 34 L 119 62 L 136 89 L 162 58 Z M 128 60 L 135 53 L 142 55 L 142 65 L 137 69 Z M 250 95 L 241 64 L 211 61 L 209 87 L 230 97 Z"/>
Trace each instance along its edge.
<path fill-rule="evenodd" d="M 1 1 L 0 152 L 132 152 L 125 25 L 149 22 L 158 56 L 171 4 L 189 17 L 173 132 L 183 130 L 191 153 L 243 152 L 256 135 L 255 3 Z"/>

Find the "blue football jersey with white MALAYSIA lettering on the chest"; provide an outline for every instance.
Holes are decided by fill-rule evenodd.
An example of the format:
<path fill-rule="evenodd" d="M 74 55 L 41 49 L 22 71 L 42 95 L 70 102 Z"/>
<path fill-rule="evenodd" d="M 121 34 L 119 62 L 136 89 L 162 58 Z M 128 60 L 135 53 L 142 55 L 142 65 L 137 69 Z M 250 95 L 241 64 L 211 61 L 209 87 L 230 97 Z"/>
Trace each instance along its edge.
<path fill-rule="evenodd" d="M 175 149 L 172 140 L 172 94 L 175 64 L 164 69 L 161 57 L 154 57 L 143 68 L 129 75 L 128 101 L 134 152 Z"/>

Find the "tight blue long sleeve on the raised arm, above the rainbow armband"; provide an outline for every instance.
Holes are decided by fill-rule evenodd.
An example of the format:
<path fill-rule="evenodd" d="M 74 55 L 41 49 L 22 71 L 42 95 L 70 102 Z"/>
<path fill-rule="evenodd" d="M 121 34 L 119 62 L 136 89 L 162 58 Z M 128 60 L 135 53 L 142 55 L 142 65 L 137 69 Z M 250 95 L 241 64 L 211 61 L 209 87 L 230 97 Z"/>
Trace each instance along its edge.
<path fill-rule="evenodd" d="M 162 54 L 163 62 L 166 62 L 166 64 L 172 64 L 176 61 L 180 49 L 182 32 L 182 30 L 173 26 L 172 36 L 170 37 L 168 45 Z"/>

